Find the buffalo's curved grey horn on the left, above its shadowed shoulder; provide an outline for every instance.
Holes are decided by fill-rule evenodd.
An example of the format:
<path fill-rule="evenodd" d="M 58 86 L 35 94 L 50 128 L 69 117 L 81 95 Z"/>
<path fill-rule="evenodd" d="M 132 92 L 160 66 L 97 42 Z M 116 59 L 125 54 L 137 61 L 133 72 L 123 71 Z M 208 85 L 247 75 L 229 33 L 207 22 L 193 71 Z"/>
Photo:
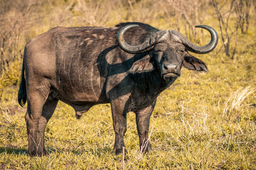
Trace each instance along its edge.
<path fill-rule="evenodd" d="M 159 35 L 156 33 L 153 36 L 151 36 L 147 41 L 142 43 L 141 45 L 132 46 L 132 45 L 127 44 L 126 41 L 124 40 L 125 31 L 127 31 L 128 29 L 131 29 L 132 27 L 138 27 L 138 26 L 139 25 L 136 25 L 136 24 L 125 25 L 118 31 L 117 41 L 118 41 L 120 48 L 122 48 L 122 50 L 124 50 L 125 52 L 140 53 L 143 50 L 146 50 L 148 47 L 157 43 L 157 40 L 159 39 Z"/>

